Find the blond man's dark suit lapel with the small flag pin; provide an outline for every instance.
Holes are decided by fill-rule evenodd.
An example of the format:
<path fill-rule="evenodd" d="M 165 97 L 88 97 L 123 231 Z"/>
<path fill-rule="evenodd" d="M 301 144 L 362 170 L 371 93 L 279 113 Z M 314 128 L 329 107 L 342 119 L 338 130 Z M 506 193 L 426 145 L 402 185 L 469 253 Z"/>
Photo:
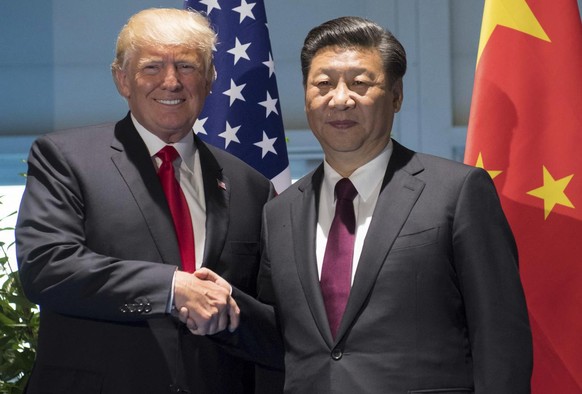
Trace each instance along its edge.
<path fill-rule="evenodd" d="M 230 181 L 222 172 L 222 167 L 208 148 L 198 137 L 194 136 L 196 148 L 200 155 L 204 196 L 206 200 L 206 244 L 202 265 L 212 266 L 218 261 L 224 243 L 229 221 Z"/>

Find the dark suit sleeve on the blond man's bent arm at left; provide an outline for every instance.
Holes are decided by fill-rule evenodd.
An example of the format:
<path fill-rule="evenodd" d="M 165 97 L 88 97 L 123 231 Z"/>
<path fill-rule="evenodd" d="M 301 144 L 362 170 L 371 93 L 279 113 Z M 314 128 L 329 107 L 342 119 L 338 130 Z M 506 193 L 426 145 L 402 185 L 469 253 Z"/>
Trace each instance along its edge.
<path fill-rule="evenodd" d="M 95 319 L 142 320 L 165 313 L 175 267 L 87 247 L 82 175 L 48 137 L 33 144 L 28 165 L 16 250 L 29 299 L 58 313 Z"/>

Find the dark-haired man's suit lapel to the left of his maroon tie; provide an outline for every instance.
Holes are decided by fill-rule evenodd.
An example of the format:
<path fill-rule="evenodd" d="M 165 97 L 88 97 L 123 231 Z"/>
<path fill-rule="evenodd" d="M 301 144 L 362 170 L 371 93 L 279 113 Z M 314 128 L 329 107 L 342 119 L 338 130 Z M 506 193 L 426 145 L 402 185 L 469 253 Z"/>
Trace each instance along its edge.
<path fill-rule="evenodd" d="M 325 342 L 331 347 L 333 338 L 319 286 L 315 253 L 319 189 L 322 180 L 323 166 L 320 166 L 311 177 L 305 178 L 298 186 L 301 193 L 292 202 L 290 214 L 293 229 L 292 244 L 299 280 L 315 324 Z"/>

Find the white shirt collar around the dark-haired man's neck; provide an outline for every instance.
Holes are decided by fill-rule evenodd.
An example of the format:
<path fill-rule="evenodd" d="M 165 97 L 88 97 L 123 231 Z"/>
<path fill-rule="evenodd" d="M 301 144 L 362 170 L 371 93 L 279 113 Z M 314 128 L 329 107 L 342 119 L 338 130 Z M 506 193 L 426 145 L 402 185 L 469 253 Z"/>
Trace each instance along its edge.
<path fill-rule="evenodd" d="M 386 167 L 388 166 L 388 161 L 390 156 L 392 156 L 393 150 L 392 140 L 388 141 L 386 147 L 372 160 L 358 168 L 354 171 L 349 179 L 354 184 L 354 187 L 358 191 L 358 196 L 364 201 L 367 201 L 371 196 L 376 187 L 384 179 L 384 174 L 386 173 Z M 323 187 L 331 191 L 332 198 L 334 197 L 335 184 L 342 178 L 340 174 L 334 170 L 327 161 L 323 161 L 324 166 L 324 177 L 323 177 Z"/>

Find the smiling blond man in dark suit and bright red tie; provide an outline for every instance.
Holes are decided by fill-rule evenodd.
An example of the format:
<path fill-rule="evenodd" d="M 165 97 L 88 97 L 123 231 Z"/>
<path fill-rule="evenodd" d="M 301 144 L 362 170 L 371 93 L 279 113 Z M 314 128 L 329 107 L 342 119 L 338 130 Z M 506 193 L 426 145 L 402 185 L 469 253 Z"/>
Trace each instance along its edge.
<path fill-rule="evenodd" d="M 192 132 L 214 78 L 215 37 L 194 12 L 137 13 L 112 65 L 128 115 L 34 143 L 16 229 L 20 277 L 41 307 L 27 393 L 252 391 L 252 365 L 172 313 L 187 307 L 203 334 L 236 324 L 229 291 L 184 267 L 210 267 L 253 294 L 260 214 L 274 194 Z M 193 230 L 188 261 L 158 178 L 168 147 Z"/>

